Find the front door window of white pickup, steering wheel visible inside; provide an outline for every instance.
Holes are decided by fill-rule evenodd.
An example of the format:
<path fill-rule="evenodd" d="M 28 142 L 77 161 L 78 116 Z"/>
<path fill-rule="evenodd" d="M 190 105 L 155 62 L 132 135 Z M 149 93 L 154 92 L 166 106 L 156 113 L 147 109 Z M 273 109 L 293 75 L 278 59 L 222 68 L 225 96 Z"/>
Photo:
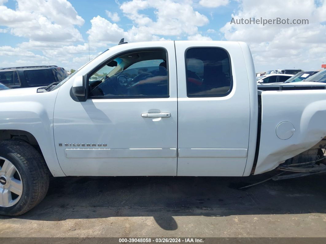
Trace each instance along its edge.
<path fill-rule="evenodd" d="M 167 97 L 166 60 L 165 50 L 123 54 L 89 76 L 89 97 Z"/>

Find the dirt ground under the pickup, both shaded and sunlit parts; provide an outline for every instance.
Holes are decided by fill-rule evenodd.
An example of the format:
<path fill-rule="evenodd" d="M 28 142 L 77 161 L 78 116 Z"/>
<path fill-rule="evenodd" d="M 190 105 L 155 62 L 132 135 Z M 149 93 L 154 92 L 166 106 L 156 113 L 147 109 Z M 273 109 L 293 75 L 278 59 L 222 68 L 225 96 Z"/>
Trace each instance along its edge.
<path fill-rule="evenodd" d="M 0 237 L 326 237 L 326 175 L 53 178 Z"/>

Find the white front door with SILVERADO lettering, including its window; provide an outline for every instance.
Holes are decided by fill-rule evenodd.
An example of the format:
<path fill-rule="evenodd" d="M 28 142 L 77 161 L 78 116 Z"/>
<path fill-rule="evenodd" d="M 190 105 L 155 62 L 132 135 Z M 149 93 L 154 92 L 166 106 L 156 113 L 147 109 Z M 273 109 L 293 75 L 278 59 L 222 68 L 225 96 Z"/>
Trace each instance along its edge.
<path fill-rule="evenodd" d="M 61 87 L 54 140 L 66 175 L 176 175 L 174 43 L 135 45 L 85 74 L 85 102 L 74 101 L 66 83 Z"/>

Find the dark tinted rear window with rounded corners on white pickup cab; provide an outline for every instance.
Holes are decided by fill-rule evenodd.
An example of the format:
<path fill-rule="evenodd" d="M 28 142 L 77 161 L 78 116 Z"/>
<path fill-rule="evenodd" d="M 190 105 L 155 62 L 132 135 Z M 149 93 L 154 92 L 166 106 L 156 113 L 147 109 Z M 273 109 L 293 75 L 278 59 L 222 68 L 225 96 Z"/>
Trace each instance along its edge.
<path fill-rule="evenodd" d="M 188 97 L 225 96 L 232 88 L 228 53 L 220 48 L 191 48 L 186 51 Z"/>

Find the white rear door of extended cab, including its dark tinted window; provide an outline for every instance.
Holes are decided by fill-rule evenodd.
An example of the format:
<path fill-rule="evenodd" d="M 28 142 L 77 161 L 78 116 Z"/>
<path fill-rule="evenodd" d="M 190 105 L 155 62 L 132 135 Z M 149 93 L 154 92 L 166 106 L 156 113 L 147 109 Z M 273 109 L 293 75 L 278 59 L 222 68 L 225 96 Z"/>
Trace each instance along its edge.
<path fill-rule="evenodd" d="M 242 176 L 249 84 L 237 42 L 176 41 L 179 176 Z"/>

